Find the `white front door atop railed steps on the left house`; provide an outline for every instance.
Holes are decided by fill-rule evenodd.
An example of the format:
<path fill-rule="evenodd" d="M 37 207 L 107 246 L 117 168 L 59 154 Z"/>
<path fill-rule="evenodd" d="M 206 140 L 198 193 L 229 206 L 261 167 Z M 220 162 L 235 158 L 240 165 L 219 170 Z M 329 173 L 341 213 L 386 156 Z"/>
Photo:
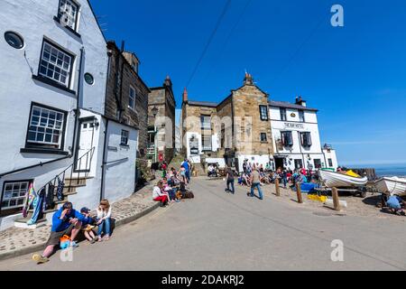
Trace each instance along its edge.
<path fill-rule="evenodd" d="M 95 119 L 80 120 L 80 134 L 78 139 L 78 151 L 76 154 L 77 172 L 89 172 L 91 158 L 93 156 L 93 137 L 95 135 Z"/>

